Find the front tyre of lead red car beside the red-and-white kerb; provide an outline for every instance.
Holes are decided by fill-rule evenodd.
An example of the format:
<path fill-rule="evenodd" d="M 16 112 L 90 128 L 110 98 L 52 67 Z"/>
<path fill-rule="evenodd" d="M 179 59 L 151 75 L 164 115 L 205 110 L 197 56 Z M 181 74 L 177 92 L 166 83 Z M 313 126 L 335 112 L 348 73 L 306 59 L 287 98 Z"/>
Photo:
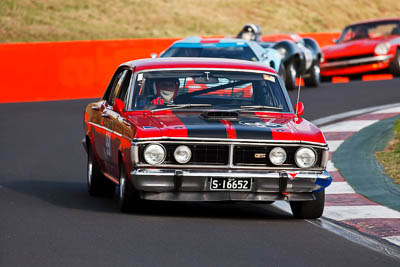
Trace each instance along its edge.
<path fill-rule="evenodd" d="M 291 201 L 293 216 L 298 219 L 316 219 L 322 216 L 325 206 L 325 190 L 314 193 L 315 200 Z"/>

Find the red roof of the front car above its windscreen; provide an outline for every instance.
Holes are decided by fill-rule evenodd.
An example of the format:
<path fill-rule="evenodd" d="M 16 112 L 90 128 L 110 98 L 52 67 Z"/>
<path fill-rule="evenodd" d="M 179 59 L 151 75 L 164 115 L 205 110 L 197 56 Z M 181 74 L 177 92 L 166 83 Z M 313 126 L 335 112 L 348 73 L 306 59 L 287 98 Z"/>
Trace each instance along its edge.
<path fill-rule="evenodd" d="M 138 59 L 121 64 L 135 68 L 135 71 L 152 69 L 235 69 L 240 71 L 261 71 L 275 73 L 275 70 L 265 64 L 247 60 L 227 58 L 200 58 L 200 57 L 166 57 Z"/>

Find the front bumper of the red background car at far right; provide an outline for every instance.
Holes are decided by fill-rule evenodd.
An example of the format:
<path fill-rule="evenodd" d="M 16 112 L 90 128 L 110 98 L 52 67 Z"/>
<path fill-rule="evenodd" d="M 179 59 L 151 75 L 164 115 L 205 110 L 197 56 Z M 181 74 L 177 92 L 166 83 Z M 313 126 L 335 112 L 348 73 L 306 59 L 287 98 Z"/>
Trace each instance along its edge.
<path fill-rule="evenodd" d="M 384 70 L 389 67 L 393 55 L 365 57 L 321 64 L 322 76 L 351 75 Z"/>

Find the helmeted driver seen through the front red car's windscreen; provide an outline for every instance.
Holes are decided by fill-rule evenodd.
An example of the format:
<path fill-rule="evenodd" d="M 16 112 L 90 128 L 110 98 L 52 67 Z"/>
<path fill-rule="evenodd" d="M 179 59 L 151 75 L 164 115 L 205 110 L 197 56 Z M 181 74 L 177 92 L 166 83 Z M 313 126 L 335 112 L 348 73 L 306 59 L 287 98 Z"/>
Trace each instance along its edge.
<path fill-rule="evenodd" d="M 153 99 L 153 105 L 172 104 L 179 89 L 179 79 L 159 79 L 155 81 L 157 98 Z"/>

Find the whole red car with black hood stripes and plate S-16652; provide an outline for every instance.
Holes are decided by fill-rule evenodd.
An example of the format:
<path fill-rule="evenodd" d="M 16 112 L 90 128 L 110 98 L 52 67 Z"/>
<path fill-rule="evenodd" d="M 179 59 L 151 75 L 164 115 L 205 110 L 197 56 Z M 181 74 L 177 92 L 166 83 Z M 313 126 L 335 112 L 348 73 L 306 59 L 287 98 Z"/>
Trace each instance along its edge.
<path fill-rule="evenodd" d="M 143 200 L 287 200 L 295 217 L 320 217 L 328 146 L 296 107 L 260 63 L 124 63 L 85 110 L 88 191 L 112 196 L 118 186 L 121 211 Z"/>

